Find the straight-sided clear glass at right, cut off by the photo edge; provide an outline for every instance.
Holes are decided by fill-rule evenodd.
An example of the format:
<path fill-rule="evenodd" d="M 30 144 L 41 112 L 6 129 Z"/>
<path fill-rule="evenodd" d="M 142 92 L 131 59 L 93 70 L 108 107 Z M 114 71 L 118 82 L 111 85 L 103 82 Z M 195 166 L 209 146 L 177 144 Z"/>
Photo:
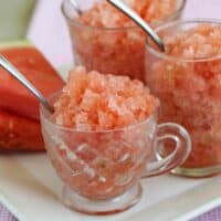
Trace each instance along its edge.
<path fill-rule="evenodd" d="M 186 20 L 156 31 L 161 38 L 171 38 L 201 23 L 221 27 L 221 21 Z M 175 57 L 147 42 L 146 57 L 146 83 L 161 102 L 159 122 L 183 125 L 192 139 L 189 158 L 173 172 L 189 177 L 221 172 L 221 56 Z"/>

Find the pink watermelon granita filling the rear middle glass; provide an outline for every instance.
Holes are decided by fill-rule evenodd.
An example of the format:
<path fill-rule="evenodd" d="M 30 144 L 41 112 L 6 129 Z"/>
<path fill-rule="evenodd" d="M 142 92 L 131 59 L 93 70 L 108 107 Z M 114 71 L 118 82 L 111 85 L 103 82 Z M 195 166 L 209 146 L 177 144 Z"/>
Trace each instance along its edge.
<path fill-rule="evenodd" d="M 90 1 L 92 7 L 75 15 L 70 0 L 63 12 L 70 28 L 75 62 L 102 73 L 124 74 L 144 80 L 146 34 L 106 1 Z M 156 25 L 178 19 L 183 0 L 125 0 L 145 21 Z"/>

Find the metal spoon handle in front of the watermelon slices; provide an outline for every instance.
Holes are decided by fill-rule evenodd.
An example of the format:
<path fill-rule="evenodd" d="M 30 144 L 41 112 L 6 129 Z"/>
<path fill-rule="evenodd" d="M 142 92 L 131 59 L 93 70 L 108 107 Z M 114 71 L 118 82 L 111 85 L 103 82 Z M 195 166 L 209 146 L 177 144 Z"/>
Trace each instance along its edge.
<path fill-rule="evenodd" d="M 23 84 L 39 99 L 39 102 L 44 105 L 46 109 L 49 109 L 51 113 L 54 112 L 54 107 L 46 101 L 42 93 L 36 90 L 35 86 L 2 55 L 0 55 L 0 66 L 14 78 L 17 78 L 21 84 Z"/>

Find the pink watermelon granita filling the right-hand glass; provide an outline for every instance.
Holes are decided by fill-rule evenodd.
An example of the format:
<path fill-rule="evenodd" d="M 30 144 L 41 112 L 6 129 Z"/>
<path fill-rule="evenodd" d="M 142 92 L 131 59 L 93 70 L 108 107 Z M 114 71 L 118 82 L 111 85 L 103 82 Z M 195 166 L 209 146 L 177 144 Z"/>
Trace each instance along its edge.
<path fill-rule="evenodd" d="M 182 168 L 218 168 L 221 164 L 221 23 L 183 21 L 161 27 L 158 32 L 167 52 L 161 54 L 147 46 L 146 81 L 160 98 L 160 120 L 177 122 L 191 135 L 192 151 Z"/>

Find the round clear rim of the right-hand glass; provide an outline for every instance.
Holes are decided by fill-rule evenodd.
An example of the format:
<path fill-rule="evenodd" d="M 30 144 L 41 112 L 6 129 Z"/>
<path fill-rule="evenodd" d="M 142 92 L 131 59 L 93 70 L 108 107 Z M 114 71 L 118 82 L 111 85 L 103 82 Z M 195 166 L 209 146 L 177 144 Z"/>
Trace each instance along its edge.
<path fill-rule="evenodd" d="M 181 21 L 172 21 L 165 23 L 162 25 L 159 25 L 158 28 L 155 29 L 156 33 L 159 33 L 160 31 L 171 28 L 173 25 L 183 25 L 183 24 L 191 24 L 191 23 L 210 23 L 210 24 L 219 24 L 221 25 L 221 20 L 218 19 L 207 19 L 207 18 L 197 18 L 197 19 L 185 19 Z M 170 62 L 186 62 L 186 63 L 194 63 L 194 62 L 211 62 L 215 60 L 220 60 L 221 55 L 214 55 L 214 56 L 206 56 L 206 57 L 196 57 L 196 59 L 186 59 L 186 57 L 177 57 L 175 55 L 168 55 L 165 54 L 164 52 L 157 51 L 154 49 L 150 44 L 148 39 L 146 39 L 146 50 L 152 54 L 154 56 L 161 59 L 161 60 L 167 60 Z"/>

